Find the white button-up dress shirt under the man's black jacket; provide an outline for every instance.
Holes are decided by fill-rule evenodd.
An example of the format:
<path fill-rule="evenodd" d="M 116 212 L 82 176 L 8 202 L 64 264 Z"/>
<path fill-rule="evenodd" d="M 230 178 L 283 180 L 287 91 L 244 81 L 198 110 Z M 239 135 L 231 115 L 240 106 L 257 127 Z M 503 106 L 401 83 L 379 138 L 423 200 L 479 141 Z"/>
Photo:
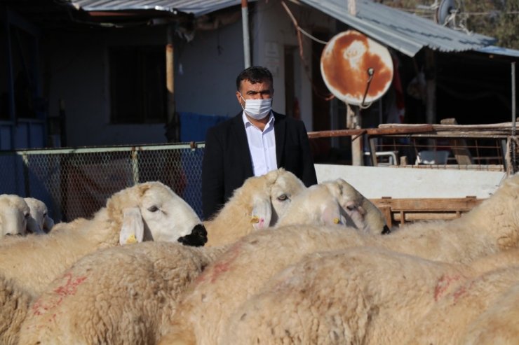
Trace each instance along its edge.
<path fill-rule="evenodd" d="M 276 161 L 276 137 L 274 136 L 274 115 L 269 115 L 269 121 L 263 132 L 252 125 L 245 113 L 242 114 L 247 141 L 249 143 L 250 157 L 252 159 L 252 171 L 254 176 L 267 174 L 269 171 L 278 169 Z"/>

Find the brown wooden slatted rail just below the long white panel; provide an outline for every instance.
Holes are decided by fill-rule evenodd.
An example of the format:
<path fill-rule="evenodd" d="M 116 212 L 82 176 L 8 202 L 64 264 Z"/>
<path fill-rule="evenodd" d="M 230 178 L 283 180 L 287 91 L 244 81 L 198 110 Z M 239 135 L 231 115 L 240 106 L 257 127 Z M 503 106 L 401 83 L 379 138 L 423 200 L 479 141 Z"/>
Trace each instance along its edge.
<path fill-rule="evenodd" d="M 464 198 L 420 198 L 420 199 L 370 199 L 386 217 L 389 227 L 422 220 L 450 220 L 469 212 L 484 199 Z"/>

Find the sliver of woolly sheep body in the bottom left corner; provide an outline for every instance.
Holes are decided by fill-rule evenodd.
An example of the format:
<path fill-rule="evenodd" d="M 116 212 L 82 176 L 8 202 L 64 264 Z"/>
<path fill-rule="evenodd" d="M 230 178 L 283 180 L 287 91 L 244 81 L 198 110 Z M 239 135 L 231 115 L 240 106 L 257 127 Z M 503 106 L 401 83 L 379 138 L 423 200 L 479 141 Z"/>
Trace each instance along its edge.
<path fill-rule="evenodd" d="M 0 344 L 18 344 L 18 332 L 31 298 L 27 291 L 0 274 Z"/>

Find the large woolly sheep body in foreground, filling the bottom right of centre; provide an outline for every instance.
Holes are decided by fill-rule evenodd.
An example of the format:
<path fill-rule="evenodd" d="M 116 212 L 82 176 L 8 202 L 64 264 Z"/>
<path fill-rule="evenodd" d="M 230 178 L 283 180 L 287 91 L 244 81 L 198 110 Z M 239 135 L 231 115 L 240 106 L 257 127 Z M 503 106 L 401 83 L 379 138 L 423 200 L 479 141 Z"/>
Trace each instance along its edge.
<path fill-rule="evenodd" d="M 460 309 L 459 300 L 473 294 L 475 282 L 506 288 L 517 280 L 518 263 L 517 250 L 474 265 L 379 247 L 312 253 L 241 304 L 215 344 L 281 344 L 289 339 L 299 344 L 459 344 L 453 342 L 453 332 L 461 329 L 460 320 L 490 299 L 465 298 L 458 313 L 443 301 Z M 413 328 L 423 330 L 422 338 L 409 334 Z M 409 342 L 403 342 L 407 337 Z"/>

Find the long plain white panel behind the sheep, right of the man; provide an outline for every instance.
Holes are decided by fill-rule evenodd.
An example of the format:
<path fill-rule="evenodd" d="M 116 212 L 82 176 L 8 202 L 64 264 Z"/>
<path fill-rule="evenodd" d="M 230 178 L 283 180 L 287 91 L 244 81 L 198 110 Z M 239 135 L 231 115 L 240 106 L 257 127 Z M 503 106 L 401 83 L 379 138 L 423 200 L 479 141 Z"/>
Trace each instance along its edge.
<path fill-rule="evenodd" d="M 317 181 L 344 178 L 368 199 L 381 197 L 487 198 L 506 174 L 502 171 L 353 167 L 316 164 Z"/>

